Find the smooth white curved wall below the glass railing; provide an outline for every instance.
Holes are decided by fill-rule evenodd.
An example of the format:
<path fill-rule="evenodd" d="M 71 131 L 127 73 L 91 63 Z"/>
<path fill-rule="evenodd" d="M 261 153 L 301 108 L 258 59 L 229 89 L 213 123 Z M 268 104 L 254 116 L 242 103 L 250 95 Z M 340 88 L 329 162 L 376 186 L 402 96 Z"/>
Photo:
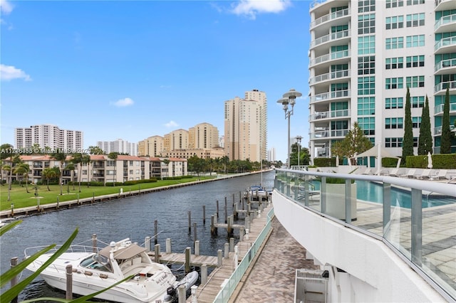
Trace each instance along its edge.
<path fill-rule="evenodd" d="M 380 240 L 306 211 L 275 190 L 272 201 L 284 228 L 329 269 L 330 302 L 446 302 Z"/>

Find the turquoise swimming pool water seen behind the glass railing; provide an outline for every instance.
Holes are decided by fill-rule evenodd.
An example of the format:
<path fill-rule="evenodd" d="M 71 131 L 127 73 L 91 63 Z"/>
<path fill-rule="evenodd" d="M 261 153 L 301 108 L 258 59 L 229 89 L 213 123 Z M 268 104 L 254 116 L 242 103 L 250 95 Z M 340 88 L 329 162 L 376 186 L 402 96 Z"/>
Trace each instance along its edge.
<path fill-rule="evenodd" d="M 315 189 L 320 189 L 319 181 L 311 181 L 314 184 Z M 373 203 L 383 203 L 383 186 L 382 184 L 370 182 L 370 181 L 356 181 L 356 196 L 358 200 L 373 202 Z M 412 201 L 412 196 L 410 191 L 404 189 L 391 187 L 391 206 L 400 206 L 403 208 L 410 208 Z M 423 194 L 422 207 L 435 207 L 443 206 L 456 203 L 455 198 L 451 197 L 442 197 L 442 196 L 427 196 Z"/>

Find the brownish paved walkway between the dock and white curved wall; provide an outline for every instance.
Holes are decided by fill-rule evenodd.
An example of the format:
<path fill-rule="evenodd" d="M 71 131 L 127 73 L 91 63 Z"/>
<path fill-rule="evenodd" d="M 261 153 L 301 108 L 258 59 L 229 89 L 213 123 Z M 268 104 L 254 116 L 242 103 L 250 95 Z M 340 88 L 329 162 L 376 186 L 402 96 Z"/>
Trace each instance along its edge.
<path fill-rule="evenodd" d="M 306 260 L 306 250 L 276 218 L 272 220 L 272 228 L 263 250 L 229 302 L 294 302 L 296 269 L 318 269 L 313 260 Z"/>

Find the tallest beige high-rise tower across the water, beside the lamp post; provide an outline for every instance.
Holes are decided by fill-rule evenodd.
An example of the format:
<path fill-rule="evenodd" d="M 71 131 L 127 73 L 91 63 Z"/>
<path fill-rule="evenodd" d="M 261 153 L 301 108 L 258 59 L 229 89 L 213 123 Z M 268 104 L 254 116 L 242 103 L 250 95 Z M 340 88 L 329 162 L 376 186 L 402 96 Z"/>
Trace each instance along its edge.
<path fill-rule="evenodd" d="M 224 148 L 230 160 L 266 159 L 266 94 L 259 90 L 245 92 L 224 103 Z"/>

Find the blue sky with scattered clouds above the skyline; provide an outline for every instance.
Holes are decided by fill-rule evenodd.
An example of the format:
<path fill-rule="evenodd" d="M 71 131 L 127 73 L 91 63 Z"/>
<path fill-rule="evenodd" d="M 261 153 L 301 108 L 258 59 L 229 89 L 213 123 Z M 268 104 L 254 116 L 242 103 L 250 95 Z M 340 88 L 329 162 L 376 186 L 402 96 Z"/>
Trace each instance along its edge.
<path fill-rule="evenodd" d="M 1 144 L 55 124 L 138 142 L 202 122 L 224 133 L 224 101 L 266 92 L 268 149 L 286 160 L 276 101 L 303 93 L 291 137 L 309 141 L 310 1 L 4 1 Z"/>

